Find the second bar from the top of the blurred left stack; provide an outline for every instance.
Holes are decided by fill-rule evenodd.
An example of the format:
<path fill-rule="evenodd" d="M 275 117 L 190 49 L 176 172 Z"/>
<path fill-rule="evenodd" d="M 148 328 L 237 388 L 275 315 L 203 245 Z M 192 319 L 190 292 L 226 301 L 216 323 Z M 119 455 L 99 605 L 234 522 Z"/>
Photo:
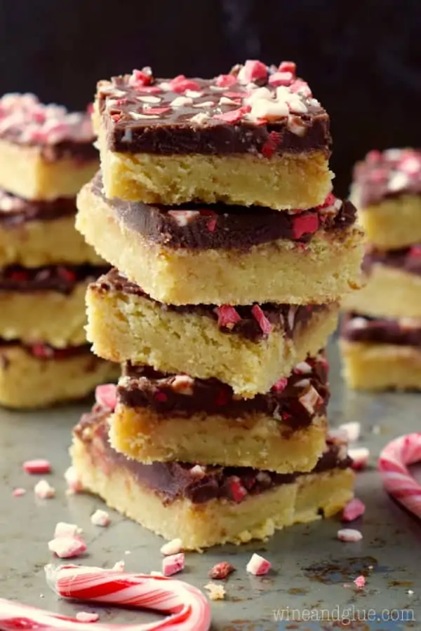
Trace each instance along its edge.
<path fill-rule="evenodd" d="M 104 264 L 74 228 L 76 201 L 32 201 L 0 189 L 0 267 Z"/>

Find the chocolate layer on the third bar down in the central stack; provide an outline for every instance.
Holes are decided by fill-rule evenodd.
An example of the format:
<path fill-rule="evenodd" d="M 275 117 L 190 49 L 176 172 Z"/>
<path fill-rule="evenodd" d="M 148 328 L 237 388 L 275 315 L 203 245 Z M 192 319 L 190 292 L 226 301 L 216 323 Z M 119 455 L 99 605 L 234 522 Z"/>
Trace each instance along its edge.
<path fill-rule="evenodd" d="M 222 318 L 218 316 L 220 308 L 217 306 L 211 304 L 182 306 L 163 304 L 162 302 L 154 300 L 149 294 L 145 293 L 139 285 L 132 283 L 131 280 L 122 276 L 115 268 L 110 270 L 105 276 L 98 278 L 91 287 L 95 288 L 95 291 L 105 294 L 119 292 L 122 294 L 140 296 L 153 302 L 156 308 L 161 308 L 163 311 L 175 311 L 181 314 L 194 313 L 205 318 L 210 318 L 218 323 L 218 327 L 223 333 L 241 335 L 241 337 L 256 343 L 269 337 L 269 334 L 262 330 L 262 326 L 255 315 L 253 315 L 253 306 L 236 306 L 235 313 L 241 320 L 225 325 L 225 320 L 222 320 Z M 330 308 L 332 308 L 331 304 L 289 305 L 266 303 L 260 305 L 260 310 L 272 326 L 272 330 L 282 330 L 288 338 L 293 337 L 298 327 L 305 326 L 314 313 L 328 311 Z"/>

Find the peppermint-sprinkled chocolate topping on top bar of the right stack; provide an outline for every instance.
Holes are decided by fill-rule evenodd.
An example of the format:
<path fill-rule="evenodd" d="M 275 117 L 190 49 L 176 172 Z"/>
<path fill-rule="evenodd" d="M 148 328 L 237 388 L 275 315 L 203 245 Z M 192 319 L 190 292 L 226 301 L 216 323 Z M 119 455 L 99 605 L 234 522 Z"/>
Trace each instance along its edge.
<path fill-rule="evenodd" d="M 361 208 L 403 194 L 420 195 L 421 151 L 370 151 L 365 160 L 354 167 L 353 189 Z"/>

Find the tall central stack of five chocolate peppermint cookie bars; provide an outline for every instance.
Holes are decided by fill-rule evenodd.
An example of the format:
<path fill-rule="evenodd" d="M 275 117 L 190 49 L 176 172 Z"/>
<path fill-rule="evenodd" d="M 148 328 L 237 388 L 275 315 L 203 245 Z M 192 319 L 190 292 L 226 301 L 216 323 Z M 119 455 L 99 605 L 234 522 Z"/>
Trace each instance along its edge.
<path fill-rule="evenodd" d="M 82 484 L 193 549 L 335 513 L 354 477 L 320 349 L 361 231 L 330 194 L 326 111 L 292 62 L 248 61 L 100 81 L 94 121 L 76 226 L 115 269 L 88 339 L 122 375 L 74 430 Z"/>

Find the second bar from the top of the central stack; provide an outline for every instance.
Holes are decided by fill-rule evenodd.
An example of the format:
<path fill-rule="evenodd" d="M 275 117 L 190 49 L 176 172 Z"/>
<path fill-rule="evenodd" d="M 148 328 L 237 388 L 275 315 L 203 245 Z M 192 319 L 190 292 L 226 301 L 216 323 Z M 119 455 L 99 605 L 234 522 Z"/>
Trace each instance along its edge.
<path fill-rule="evenodd" d="M 77 205 L 88 243 L 164 303 L 323 304 L 359 286 L 356 210 L 333 196 L 305 212 L 171 210 L 107 200 L 98 175 Z"/>

